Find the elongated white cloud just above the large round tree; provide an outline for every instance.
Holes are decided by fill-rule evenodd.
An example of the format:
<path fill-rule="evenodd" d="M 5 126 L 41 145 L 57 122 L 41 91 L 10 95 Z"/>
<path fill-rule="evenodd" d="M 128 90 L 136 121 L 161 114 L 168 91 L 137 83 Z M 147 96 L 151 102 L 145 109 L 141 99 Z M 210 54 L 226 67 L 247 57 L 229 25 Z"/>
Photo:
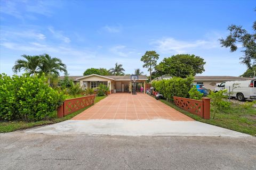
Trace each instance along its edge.
<path fill-rule="evenodd" d="M 157 50 L 161 53 L 188 53 L 191 50 L 204 48 L 216 48 L 219 47 L 218 38 L 215 40 L 195 40 L 195 41 L 182 41 L 174 38 L 163 38 L 151 43 L 156 46 Z"/>

